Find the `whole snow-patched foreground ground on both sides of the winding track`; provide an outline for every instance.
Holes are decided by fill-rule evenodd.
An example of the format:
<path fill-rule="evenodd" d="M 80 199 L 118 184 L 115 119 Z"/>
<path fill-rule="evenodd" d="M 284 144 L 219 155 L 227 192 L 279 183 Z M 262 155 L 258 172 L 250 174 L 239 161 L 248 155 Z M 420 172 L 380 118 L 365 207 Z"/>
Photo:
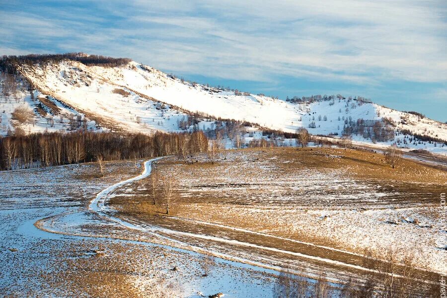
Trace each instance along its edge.
<path fill-rule="evenodd" d="M 147 297 L 161 287 L 172 297 L 272 297 L 280 269 L 310 283 L 321 271 L 335 283 L 364 280 L 373 272 L 363 248 L 389 242 L 445 272 L 433 196 L 446 173 L 409 161 L 389 176 L 375 165 L 359 173 L 349 152 L 364 154 L 256 149 L 225 151 L 216 165 L 203 155 L 191 165 L 157 160 L 158 173 L 179 181 L 170 217 L 132 211 L 147 206 L 149 162 L 137 172 L 109 163 L 105 177 L 93 163 L 0 172 L 0 294 Z M 215 256 L 206 277 L 204 253 Z"/>

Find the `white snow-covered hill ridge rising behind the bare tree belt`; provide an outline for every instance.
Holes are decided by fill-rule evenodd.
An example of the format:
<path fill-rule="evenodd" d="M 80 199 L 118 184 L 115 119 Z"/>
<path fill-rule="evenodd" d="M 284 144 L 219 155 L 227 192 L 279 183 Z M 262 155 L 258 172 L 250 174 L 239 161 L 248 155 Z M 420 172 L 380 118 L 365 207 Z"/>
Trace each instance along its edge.
<path fill-rule="evenodd" d="M 33 86 L 33 92 L 23 88 L 15 98 L 0 97 L 2 135 L 14 128 L 34 132 L 80 126 L 142 133 L 182 131 L 191 128 L 194 122 L 188 116 L 196 113 L 200 115 L 196 123 L 199 129 L 213 128 L 214 119 L 222 118 L 256 124 L 258 128 L 251 130 L 260 131 L 262 127 L 295 132 L 305 127 L 313 135 L 337 138 L 343 134 L 344 127 L 359 129 L 358 123 L 363 123 L 358 122 L 360 119 L 370 121 L 360 125 L 361 132 L 356 131 L 353 136 L 355 142 L 372 144 L 374 141 L 375 146 L 382 147 L 397 142 L 399 147 L 447 152 L 444 144 L 420 142 L 407 132 L 447 140 L 446 124 L 355 99 L 286 102 L 186 82 L 136 62 L 101 67 L 67 59 L 22 64 L 18 71 Z M 18 121 L 14 117 L 17 109 L 32 111 L 33 121 Z M 384 117 L 392 120 L 389 127 L 395 131 L 394 137 L 385 142 L 372 140 L 373 123 L 382 122 Z"/>

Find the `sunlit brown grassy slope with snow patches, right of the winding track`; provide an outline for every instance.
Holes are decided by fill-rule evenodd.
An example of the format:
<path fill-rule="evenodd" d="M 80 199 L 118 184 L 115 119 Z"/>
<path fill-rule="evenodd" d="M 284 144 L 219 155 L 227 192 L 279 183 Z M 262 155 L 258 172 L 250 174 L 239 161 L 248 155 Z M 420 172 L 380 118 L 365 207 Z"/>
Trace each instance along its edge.
<path fill-rule="evenodd" d="M 397 247 L 414 253 L 420 268 L 446 270 L 439 206 L 445 171 L 406 159 L 392 169 L 382 154 L 328 148 L 227 150 L 215 164 L 206 155 L 190 161 L 173 156 L 155 163 L 156 205 L 149 177 L 118 191 L 111 206 L 180 240 L 190 235 L 175 231 L 219 238 L 188 239 L 195 245 L 231 253 L 237 245 L 230 248 L 228 240 L 258 245 L 250 247 L 253 259 L 277 266 L 298 268 L 299 260 L 262 247 L 359 266 L 365 249 Z M 176 201 L 166 216 L 162 185 L 171 177 Z"/>

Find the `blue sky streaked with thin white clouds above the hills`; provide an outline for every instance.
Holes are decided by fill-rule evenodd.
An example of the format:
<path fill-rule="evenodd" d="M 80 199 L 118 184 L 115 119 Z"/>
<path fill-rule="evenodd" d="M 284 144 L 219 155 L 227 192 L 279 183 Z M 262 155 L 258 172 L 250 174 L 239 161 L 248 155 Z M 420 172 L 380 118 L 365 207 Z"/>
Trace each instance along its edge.
<path fill-rule="evenodd" d="M 446 0 L 0 0 L 0 55 L 129 57 L 212 85 L 447 121 Z"/>

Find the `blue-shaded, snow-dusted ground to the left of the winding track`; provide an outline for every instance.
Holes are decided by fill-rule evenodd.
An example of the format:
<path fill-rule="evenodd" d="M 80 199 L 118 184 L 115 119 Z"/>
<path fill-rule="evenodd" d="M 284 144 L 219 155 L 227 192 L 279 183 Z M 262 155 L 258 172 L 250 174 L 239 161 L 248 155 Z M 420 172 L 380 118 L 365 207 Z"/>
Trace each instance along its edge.
<path fill-rule="evenodd" d="M 204 277 L 203 254 L 88 211 L 101 190 L 138 174 L 132 162 L 107 168 L 0 172 L 0 296 L 272 296 L 275 268 L 214 258 Z"/>

